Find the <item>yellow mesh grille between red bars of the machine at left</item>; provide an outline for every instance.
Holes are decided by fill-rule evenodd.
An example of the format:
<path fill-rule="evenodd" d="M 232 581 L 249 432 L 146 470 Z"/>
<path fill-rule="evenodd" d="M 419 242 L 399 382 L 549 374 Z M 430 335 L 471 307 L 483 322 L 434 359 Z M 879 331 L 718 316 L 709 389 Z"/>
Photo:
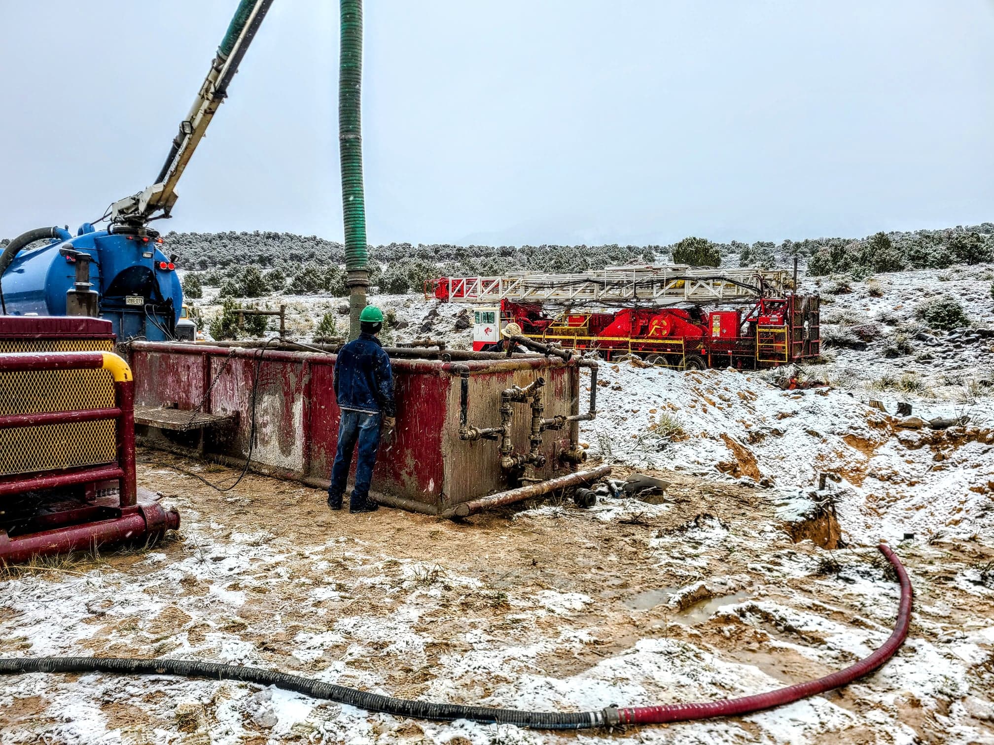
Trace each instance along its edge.
<path fill-rule="evenodd" d="M 0 354 L 112 351 L 109 339 L 0 339 Z M 0 416 L 113 405 L 113 377 L 104 370 L 0 373 Z M 113 421 L 0 430 L 0 476 L 92 466 L 115 458 Z"/>

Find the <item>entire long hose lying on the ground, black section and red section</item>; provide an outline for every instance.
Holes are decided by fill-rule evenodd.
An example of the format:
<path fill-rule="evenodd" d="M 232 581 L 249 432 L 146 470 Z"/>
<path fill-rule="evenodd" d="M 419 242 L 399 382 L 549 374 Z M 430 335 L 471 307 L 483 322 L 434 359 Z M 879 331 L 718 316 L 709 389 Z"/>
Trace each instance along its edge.
<path fill-rule="evenodd" d="M 377 711 L 394 716 L 434 721 L 468 719 L 482 724 L 514 724 L 531 729 L 594 729 L 618 724 L 654 724 L 660 722 L 689 721 L 716 716 L 742 715 L 799 700 L 815 693 L 846 685 L 858 677 L 877 670 L 898 651 L 911 623 L 911 581 L 897 554 L 886 544 L 881 552 L 894 567 L 901 582 L 901 603 L 894 633 L 884 645 L 867 658 L 845 670 L 797 683 L 785 688 L 760 693 L 745 698 L 709 701 L 706 703 L 669 704 L 618 708 L 608 706 L 600 711 L 542 712 L 497 709 L 489 706 L 464 706 L 455 703 L 431 703 L 393 698 L 379 693 L 368 693 L 344 685 L 312 680 L 284 672 L 243 668 L 237 665 L 203 663 L 196 660 L 141 660 L 93 657 L 43 657 L 0 658 L 0 674 L 25 674 L 29 672 L 108 672 L 118 675 L 180 675 L 205 677 L 213 680 L 239 680 L 256 685 L 274 685 L 284 690 L 337 701 L 366 711 Z"/>

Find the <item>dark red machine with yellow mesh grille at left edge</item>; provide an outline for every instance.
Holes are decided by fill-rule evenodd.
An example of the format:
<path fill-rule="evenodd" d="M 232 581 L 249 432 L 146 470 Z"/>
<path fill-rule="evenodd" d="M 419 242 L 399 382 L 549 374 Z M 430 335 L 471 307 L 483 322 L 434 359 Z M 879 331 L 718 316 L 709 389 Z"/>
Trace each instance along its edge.
<path fill-rule="evenodd" d="M 137 500 L 134 382 L 111 328 L 0 317 L 0 563 L 179 526 Z"/>

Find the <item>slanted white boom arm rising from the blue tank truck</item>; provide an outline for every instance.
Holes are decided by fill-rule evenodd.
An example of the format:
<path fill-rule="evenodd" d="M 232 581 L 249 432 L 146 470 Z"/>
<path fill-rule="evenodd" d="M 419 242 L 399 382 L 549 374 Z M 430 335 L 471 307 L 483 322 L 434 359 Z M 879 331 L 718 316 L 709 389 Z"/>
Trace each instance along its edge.
<path fill-rule="evenodd" d="M 143 192 L 125 197 L 110 206 L 110 222 L 117 224 L 146 224 L 150 220 L 168 218 L 179 196 L 176 184 L 200 144 L 207 127 L 222 101 L 228 95 L 228 84 L 239 72 L 239 64 L 248 51 L 272 0 L 241 0 L 211 70 L 200 86 L 190 113 L 180 122 L 180 131 L 173 139 L 169 155 L 155 183 Z M 153 217 L 156 213 L 162 215 Z"/>

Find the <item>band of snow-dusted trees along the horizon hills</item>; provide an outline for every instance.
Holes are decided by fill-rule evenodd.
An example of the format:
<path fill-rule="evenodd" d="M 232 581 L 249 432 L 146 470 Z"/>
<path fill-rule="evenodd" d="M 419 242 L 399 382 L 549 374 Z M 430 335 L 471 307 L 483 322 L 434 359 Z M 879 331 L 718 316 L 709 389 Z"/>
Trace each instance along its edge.
<path fill-rule="evenodd" d="M 203 285 L 221 288 L 222 297 L 270 293 L 347 295 L 345 249 L 316 235 L 252 232 L 170 232 L 166 250 L 179 256 L 188 295 Z M 954 263 L 994 260 L 994 223 L 942 230 L 878 232 L 863 238 L 733 240 L 687 237 L 669 245 L 453 245 L 389 243 L 371 245 L 371 282 L 380 292 L 420 291 L 437 276 L 496 275 L 512 271 L 572 273 L 605 266 L 675 262 L 697 266 L 790 268 L 796 259 L 809 274 L 847 274 L 862 279 L 874 272 L 942 269 Z"/>

